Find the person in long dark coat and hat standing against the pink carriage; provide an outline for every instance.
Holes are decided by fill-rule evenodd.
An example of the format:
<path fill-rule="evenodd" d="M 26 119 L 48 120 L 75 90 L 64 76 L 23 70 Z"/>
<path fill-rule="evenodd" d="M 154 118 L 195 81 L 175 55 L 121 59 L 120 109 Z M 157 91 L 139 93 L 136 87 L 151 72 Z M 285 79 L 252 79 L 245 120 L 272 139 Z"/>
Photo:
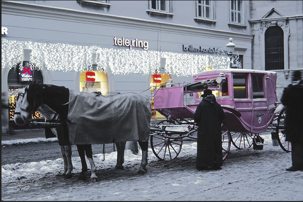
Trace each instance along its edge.
<path fill-rule="evenodd" d="M 225 114 L 211 90 L 205 90 L 202 97 L 193 116 L 198 124 L 196 168 L 217 170 L 223 165 L 221 123 Z"/>

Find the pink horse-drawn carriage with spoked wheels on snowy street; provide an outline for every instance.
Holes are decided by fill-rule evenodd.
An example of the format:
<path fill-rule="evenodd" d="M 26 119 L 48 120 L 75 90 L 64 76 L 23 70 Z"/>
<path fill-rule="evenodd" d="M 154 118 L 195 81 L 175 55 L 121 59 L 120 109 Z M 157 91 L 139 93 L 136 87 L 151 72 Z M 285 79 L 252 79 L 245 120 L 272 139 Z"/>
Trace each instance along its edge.
<path fill-rule="evenodd" d="M 160 159 L 173 159 L 183 141 L 196 141 L 193 114 L 205 89 L 211 89 L 225 111 L 222 122 L 223 160 L 231 144 L 237 149 L 263 149 L 260 133 L 273 129 L 272 139 L 285 151 L 285 108 L 276 97 L 276 73 L 246 69 L 220 69 L 198 73 L 193 81 L 172 83 L 154 89 L 154 109 L 166 117 L 151 126 L 151 148 Z M 279 107 L 278 107 L 279 106 Z M 278 111 L 278 109 L 280 109 Z"/>

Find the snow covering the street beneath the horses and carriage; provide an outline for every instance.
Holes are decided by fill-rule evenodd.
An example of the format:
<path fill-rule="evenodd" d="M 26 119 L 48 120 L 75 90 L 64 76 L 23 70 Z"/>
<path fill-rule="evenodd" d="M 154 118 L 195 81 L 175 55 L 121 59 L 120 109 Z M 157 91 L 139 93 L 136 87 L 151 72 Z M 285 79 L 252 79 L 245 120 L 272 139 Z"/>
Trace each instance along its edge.
<path fill-rule="evenodd" d="M 195 169 L 196 142 L 183 144 L 177 159 L 171 161 L 158 161 L 149 148 L 148 173 L 145 175 L 122 174 L 114 180 L 99 179 L 94 183 L 75 182 L 69 179 L 54 182 L 47 179 L 43 186 L 39 186 L 37 176 L 60 172 L 63 166 L 62 158 L 6 164 L 2 165 L 2 199 L 303 200 L 303 172 L 285 171 L 286 167 L 291 166 L 291 153 L 283 151 L 279 146 L 272 146 L 270 134 L 262 137 L 266 144 L 263 150 L 252 148 L 237 150 L 232 145 L 229 156 L 223 162 L 222 170 L 217 171 Z M 26 141 L 42 141 L 36 139 Z M 4 144 L 4 141 L 2 143 Z M 110 171 L 106 169 L 115 166 L 116 155 L 116 151 L 109 153 L 103 161 L 103 154 L 95 154 L 97 169 L 109 174 Z M 72 160 L 73 172 L 80 172 L 79 157 Z M 126 150 L 125 167 L 135 166 L 137 169 L 140 161 L 141 153 L 134 155 L 130 150 Z M 126 170 L 122 170 L 121 173 L 124 171 Z M 31 179 L 33 184 L 23 185 L 25 180 Z M 61 183 L 64 184 L 64 188 L 60 186 Z"/>

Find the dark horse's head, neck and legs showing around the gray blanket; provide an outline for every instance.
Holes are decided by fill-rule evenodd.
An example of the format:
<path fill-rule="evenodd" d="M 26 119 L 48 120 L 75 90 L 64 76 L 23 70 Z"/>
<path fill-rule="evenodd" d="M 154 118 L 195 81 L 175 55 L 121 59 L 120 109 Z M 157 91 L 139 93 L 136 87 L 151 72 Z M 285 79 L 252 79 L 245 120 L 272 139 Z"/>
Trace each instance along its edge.
<path fill-rule="evenodd" d="M 21 113 L 20 117 L 24 122 L 30 122 L 31 115 L 39 107 L 43 105 L 49 106 L 53 111 L 55 111 L 60 116 L 60 122 L 63 125 L 67 125 L 67 116 L 68 116 L 68 108 L 69 108 L 68 88 L 65 88 L 63 86 L 55 86 L 55 85 L 40 84 L 37 82 L 30 82 L 25 88 L 24 98 L 22 99 L 20 105 L 20 113 Z M 131 141 L 131 140 L 134 139 L 129 139 L 127 141 Z M 138 142 L 142 149 L 142 160 L 138 173 L 144 174 L 147 171 L 146 164 L 147 164 L 148 141 L 138 140 Z M 123 141 L 123 142 L 115 142 L 115 143 L 117 146 L 116 168 L 123 169 L 124 150 L 125 150 L 126 142 Z M 97 179 L 97 176 L 95 175 L 96 167 L 92 159 L 91 144 L 77 144 L 77 149 L 82 164 L 82 171 L 80 175 L 83 176 L 85 179 L 85 172 L 87 171 L 87 165 L 84 157 L 84 152 L 85 152 L 91 166 L 91 180 L 92 181 L 96 180 Z"/>

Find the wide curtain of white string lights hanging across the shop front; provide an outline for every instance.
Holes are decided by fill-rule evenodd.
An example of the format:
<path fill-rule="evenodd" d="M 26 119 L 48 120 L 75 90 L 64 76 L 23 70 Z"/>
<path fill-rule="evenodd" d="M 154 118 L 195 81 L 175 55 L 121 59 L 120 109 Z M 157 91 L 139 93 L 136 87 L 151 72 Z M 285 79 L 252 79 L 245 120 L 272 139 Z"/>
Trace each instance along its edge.
<path fill-rule="evenodd" d="M 33 68 L 47 68 L 51 71 L 92 70 L 92 51 L 97 54 L 97 71 L 106 72 L 107 67 L 113 74 L 149 74 L 159 72 L 160 58 L 166 58 L 165 73 L 177 76 L 192 76 L 205 68 L 229 68 L 227 56 L 195 55 L 170 52 L 142 51 L 134 49 L 106 49 L 70 45 L 63 43 L 37 43 L 9 41 L 2 39 L 2 68 L 13 67 L 23 60 L 23 47 L 32 49 Z M 35 64 L 36 67 L 33 66 Z"/>

